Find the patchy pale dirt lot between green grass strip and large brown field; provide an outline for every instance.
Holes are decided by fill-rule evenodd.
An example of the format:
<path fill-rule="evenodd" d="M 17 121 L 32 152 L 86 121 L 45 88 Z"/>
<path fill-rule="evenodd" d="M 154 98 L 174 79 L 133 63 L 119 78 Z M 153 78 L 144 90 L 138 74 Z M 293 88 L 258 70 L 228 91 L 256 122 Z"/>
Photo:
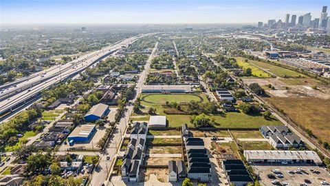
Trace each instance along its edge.
<path fill-rule="evenodd" d="M 259 83 L 272 97 L 318 97 L 330 99 L 330 86 L 314 79 L 243 79 L 245 84 Z M 271 84 L 274 90 L 267 87 Z M 311 88 L 317 85 L 317 90 Z"/>

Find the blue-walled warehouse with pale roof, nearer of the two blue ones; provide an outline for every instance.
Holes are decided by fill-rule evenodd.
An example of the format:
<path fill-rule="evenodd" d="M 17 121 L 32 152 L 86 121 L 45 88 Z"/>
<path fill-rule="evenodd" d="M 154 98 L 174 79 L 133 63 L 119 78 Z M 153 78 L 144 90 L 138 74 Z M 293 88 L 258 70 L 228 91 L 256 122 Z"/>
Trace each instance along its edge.
<path fill-rule="evenodd" d="M 95 125 L 79 125 L 67 137 L 70 145 L 74 143 L 89 143 L 96 133 Z"/>

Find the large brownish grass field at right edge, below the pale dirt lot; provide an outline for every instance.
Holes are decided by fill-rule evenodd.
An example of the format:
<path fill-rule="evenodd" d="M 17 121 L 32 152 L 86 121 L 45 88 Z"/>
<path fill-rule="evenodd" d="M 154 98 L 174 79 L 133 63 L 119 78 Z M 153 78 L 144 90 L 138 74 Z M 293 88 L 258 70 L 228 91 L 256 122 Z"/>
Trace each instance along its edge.
<path fill-rule="evenodd" d="M 270 98 L 293 121 L 311 130 L 322 141 L 330 142 L 330 101 L 319 98 Z"/>

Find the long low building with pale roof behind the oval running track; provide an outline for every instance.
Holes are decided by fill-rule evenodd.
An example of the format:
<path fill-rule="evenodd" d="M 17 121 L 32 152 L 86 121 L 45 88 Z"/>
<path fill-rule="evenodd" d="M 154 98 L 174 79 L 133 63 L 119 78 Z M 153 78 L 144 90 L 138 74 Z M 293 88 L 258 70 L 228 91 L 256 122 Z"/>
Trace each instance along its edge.
<path fill-rule="evenodd" d="M 190 85 L 144 85 L 142 93 L 190 93 Z"/>

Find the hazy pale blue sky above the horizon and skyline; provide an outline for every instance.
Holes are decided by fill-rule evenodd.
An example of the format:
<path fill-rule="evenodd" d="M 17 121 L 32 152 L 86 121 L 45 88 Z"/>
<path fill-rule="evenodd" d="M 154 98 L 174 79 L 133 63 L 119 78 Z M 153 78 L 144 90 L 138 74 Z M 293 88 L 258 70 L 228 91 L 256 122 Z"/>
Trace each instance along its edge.
<path fill-rule="evenodd" d="M 0 0 L 0 24 L 256 23 L 267 19 L 283 20 L 285 13 L 299 16 L 311 12 L 314 19 L 320 17 L 322 6 L 330 6 L 330 1 Z"/>

